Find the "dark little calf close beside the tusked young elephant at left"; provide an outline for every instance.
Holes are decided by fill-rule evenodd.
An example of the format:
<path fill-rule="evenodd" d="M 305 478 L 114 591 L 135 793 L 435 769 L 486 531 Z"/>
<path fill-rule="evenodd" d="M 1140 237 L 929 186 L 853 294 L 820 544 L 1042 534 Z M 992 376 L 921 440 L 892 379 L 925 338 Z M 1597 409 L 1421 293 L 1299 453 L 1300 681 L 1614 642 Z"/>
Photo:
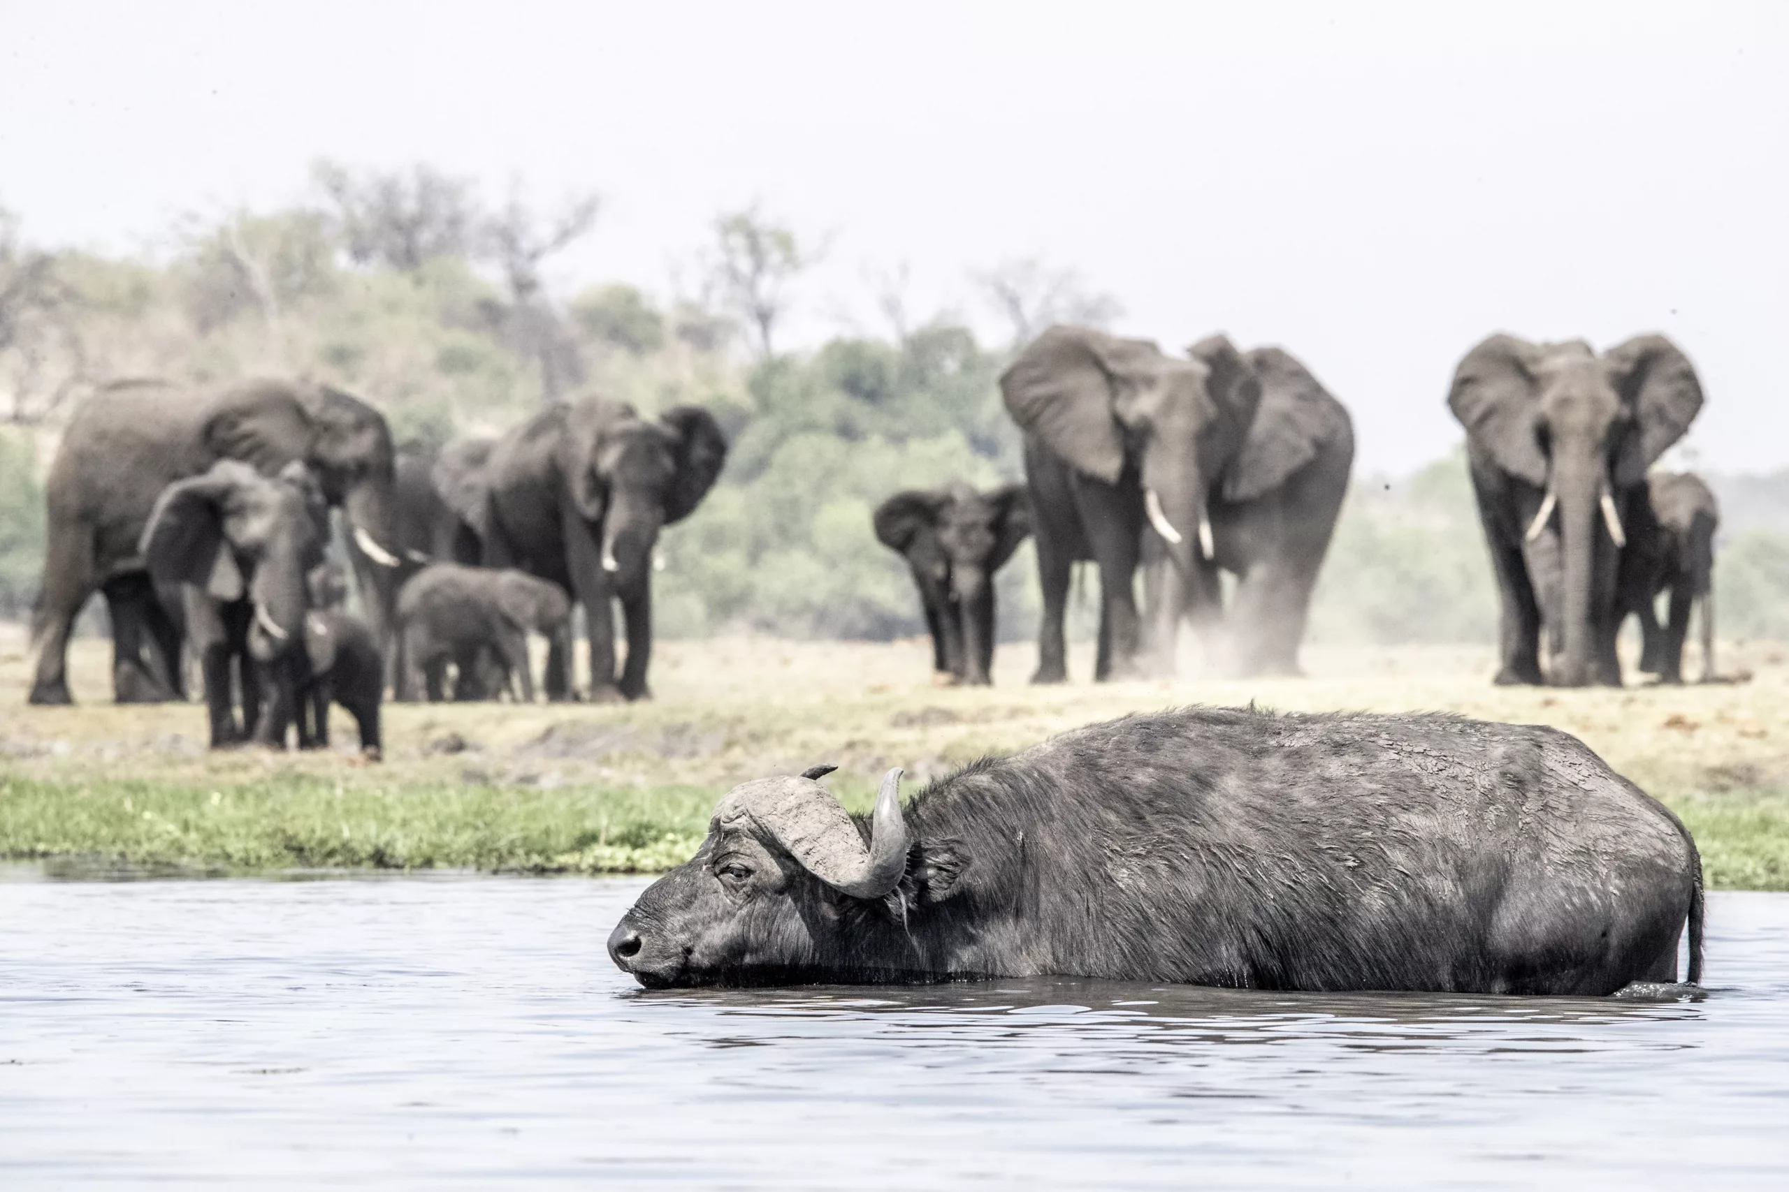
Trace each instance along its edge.
<path fill-rule="evenodd" d="M 385 699 L 385 659 L 372 631 L 342 611 L 347 583 L 342 568 L 324 563 L 308 577 L 311 609 L 304 615 L 304 652 L 311 674 L 299 693 L 299 749 L 329 745 L 329 704 L 349 709 L 360 726 L 360 752 L 379 761 L 379 701 Z"/>

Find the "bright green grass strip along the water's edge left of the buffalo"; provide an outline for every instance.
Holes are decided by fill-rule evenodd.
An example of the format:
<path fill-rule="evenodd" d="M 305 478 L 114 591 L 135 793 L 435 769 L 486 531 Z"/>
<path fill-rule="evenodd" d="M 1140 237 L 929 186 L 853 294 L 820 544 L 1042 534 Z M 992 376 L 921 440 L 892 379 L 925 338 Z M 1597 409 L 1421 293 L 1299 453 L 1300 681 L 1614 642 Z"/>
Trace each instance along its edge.
<path fill-rule="evenodd" d="M 309 774 L 188 786 L 0 777 L 0 854 L 227 872 L 483 869 L 655 872 L 701 844 L 714 792 L 343 783 Z"/>

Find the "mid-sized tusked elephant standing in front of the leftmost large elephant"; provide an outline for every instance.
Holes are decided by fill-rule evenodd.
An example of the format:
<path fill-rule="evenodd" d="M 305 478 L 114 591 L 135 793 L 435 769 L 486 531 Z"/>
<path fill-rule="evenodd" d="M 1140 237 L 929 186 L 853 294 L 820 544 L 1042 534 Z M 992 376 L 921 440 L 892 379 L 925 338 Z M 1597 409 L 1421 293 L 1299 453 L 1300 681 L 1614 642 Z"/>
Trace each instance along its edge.
<path fill-rule="evenodd" d="M 179 600 L 213 749 L 284 747 L 309 683 L 308 575 L 327 534 L 322 490 L 302 463 L 267 477 L 220 459 L 156 499 L 140 550 L 156 592 Z"/>

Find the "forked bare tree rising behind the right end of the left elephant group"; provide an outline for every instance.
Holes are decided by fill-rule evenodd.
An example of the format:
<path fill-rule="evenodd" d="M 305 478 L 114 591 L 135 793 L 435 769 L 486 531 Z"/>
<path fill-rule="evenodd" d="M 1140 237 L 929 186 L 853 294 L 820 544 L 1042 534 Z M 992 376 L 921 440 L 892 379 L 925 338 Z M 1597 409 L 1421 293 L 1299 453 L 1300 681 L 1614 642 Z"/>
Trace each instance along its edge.
<path fill-rule="evenodd" d="M 528 207 L 519 189 L 512 186 L 508 204 L 483 220 L 481 256 L 503 270 L 503 281 L 510 290 L 508 340 L 519 356 L 540 365 L 544 402 L 556 402 L 583 384 L 583 359 L 578 356 L 578 343 L 547 298 L 540 266 L 547 257 L 583 239 L 596 227 L 599 207 L 598 195 L 581 195 L 569 198 L 551 218 L 544 218 Z"/>

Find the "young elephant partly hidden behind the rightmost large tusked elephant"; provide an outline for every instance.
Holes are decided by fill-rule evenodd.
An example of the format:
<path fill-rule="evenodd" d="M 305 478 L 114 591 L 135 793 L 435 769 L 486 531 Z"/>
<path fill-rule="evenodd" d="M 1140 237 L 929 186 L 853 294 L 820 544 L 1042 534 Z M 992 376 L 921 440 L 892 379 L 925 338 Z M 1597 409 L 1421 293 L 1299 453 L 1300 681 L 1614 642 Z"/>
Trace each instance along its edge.
<path fill-rule="evenodd" d="M 1701 677 L 1717 679 L 1714 667 L 1714 536 L 1721 508 L 1701 477 L 1689 472 L 1653 472 L 1646 500 L 1628 527 L 1621 558 L 1621 615 L 1641 622 L 1641 670 L 1660 683 L 1683 681 L 1683 640 L 1701 606 Z M 1658 624 L 1658 595 L 1667 593 L 1666 624 Z"/>

